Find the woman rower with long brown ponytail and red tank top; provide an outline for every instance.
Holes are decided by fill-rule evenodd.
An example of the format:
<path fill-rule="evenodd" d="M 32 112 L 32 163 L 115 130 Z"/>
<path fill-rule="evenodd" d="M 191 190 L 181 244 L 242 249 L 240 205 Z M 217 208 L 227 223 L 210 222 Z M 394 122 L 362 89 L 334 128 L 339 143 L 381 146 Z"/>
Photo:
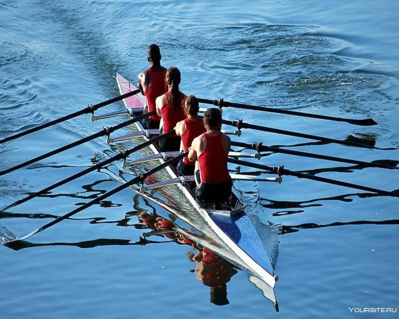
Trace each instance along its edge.
<path fill-rule="evenodd" d="M 156 112 L 162 116 L 163 127 L 159 134 L 168 133 L 174 130 L 177 122 L 186 118 L 184 114 L 184 98 L 186 97 L 179 91 L 180 71 L 177 67 L 170 67 L 166 71 L 166 84 L 168 92 L 158 96 L 155 100 Z M 176 133 L 160 140 L 159 148 L 163 152 L 173 152 L 180 149 L 180 137 Z"/>

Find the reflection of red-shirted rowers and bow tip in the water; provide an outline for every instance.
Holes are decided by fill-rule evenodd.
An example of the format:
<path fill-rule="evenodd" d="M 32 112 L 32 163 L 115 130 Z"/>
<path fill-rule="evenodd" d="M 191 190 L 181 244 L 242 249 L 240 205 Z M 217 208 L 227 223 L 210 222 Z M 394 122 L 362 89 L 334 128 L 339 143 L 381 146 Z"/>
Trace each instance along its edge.
<path fill-rule="evenodd" d="M 239 267 L 233 266 L 225 258 L 188 238 L 186 236 L 187 233 L 192 238 L 198 236 L 198 234 L 190 230 L 183 230 L 168 219 L 154 213 L 149 214 L 146 211 L 141 211 L 136 216 L 141 225 L 151 229 L 150 232 L 142 234 L 144 238 L 148 238 L 149 236 L 164 236 L 177 244 L 191 246 L 193 251 L 188 253 L 188 258 L 195 263 L 195 269 L 190 270 L 190 272 L 196 274 L 196 279 L 203 285 L 210 287 L 211 303 L 215 305 L 229 304 L 229 300 L 227 299 L 227 283 L 231 280 L 232 276 L 237 274 L 237 269 L 240 269 Z M 263 291 L 263 295 L 271 300 L 276 311 L 279 311 L 274 289 L 256 276 L 249 276 L 249 280 Z"/>

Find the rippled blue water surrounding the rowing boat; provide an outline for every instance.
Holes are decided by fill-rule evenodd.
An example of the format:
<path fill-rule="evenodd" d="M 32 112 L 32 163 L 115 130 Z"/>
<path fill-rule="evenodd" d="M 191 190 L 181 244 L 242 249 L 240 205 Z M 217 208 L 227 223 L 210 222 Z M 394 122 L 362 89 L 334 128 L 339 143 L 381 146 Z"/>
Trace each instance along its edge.
<path fill-rule="evenodd" d="M 226 119 L 342 140 L 352 134 L 380 148 L 399 147 L 397 12 L 399 2 L 392 0 L 0 1 L 0 138 L 118 95 L 115 73 L 134 81 L 147 67 L 147 46 L 157 43 L 163 65 L 182 72 L 186 94 L 372 117 L 378 125 L 229 108 L 223 111 Z M 121 108 L 116 103 L 102 112 Z M 1 144 L 0 169 L 121 120 L 91 123 L 89 116 L 80 116 Z M 364 161 L 399 159 L 397 150 L 319 145 L 253 130 L 243 130 L 239 141 Z M 117 152 L 99 138 L 0 176 L 0 206 Z M 283 154 L 260 162 L 399 188 L 397 170 Z M 117 187 L 120 171 L 115 163 L 0 213 L 2 236 L 24 234 Z M 165 211 L 140 197 L 133 207 L 134 193 L 125 189 L 36 234 L 29 247 L 0 246 L 0 317 L 346 318 L 353 316 L 348 307 L 399 306 L 397 198 L 290 176 L 281 185 L 238 182 L 235 187 L 252 207 L 253 219 L 279 226 L 279 313 L 243 270 L 227 283 L 229 304 L 210 303 L 209 287 L 190 272 L 195 264 L 189 246 L 160 236 L 140 244 L 148 230 L 140 228 L 134 212 Z M 397 313 L 361 316 L 397 318 Z"/>

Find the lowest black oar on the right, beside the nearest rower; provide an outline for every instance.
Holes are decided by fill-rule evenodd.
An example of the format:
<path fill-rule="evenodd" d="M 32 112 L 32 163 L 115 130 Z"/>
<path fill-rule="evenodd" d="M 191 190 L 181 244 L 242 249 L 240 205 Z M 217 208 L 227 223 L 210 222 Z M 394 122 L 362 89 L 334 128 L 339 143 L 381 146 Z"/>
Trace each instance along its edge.
<path fill-rule="evenodd" d="M 257 164 L 257 163 L 250 163 L 250 162 L 241 161 L 241 160 L 234 160 L 232 158 L 229 158 L 228 161 L 230 163 L 243 165 L 243 166 L 248 166 L 248 167 L 253 167 L 253 168 L 257 168 L 257 169 L 263 169 L 265 171 L 270 171 L 270 172 L 273 172 L 273 173 L 276 173 L 277 169 L 278 169 L 277 167 L 271 167 L 271 166 Z M 347 183 L 347 182 L 343 182 L 343 181 L 337 181 L 336 179 L 330 179 L 330 178 L 326 178 L 326 177 L 320 177 L 320 176 L 308 175 L 308 174 L 305 174 L 305 173 L 299 173 L 299 172 L 296 172 L 296 171 L 290 171 L 289 169 L 285 169 L 285 168 L 283 168 L 283 169 L 280 168 L 280 173 L 282 173 L 284 175 L 296 176 L 296 177 L 299 177 L 299 178 L 312 179 L 314 181 L 319 181 L 319 182 L 323 182 L 323 183 L 339 185 L 339 186 L 344 186 L 344 187 L 349 187 L 349 188 L 354 188 L 354 189 L 360 189 L 362 191 L 368 191 L 368 192 L 371 192 L 371 193 L 377 193 L 379 195 L 387 195 L 387 196 L 399 197 L 399 193 L 397 193 L 396 191 L 394 191 L 394 192 L 384 191 L 382 189 L 377 189 L 377 188 L 372 188 L 372 187 L 367 187 L 367 186 Z"/>

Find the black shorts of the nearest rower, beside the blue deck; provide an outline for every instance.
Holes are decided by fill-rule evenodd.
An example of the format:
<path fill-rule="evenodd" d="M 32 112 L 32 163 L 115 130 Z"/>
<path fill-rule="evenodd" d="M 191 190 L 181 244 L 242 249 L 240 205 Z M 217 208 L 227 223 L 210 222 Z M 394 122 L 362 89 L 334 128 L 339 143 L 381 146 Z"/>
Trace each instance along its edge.
<path fill-rule="evenodd" d="M 202 183 L 199 169 L 194 176 L 197 184 L 197 197 L 201 201 L 205 203 L 223 203 L 229 200 L 231 188 L 233 187 L 231 179 L 217 184 Z"/>

